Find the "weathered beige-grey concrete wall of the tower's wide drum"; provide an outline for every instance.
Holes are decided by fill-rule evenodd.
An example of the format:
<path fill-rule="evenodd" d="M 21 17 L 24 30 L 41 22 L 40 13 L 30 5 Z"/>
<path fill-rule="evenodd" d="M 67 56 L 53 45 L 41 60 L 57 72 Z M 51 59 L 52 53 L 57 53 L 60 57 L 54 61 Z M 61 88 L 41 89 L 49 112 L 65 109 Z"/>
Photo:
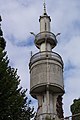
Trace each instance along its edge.
<path fill-rule="evenodd" d="M 58 61 L 46 59 L 37 61 L 31 66 L 30 88 L 36 89 L 47 84 L 61 89 L 64 87 L 62 65 Z M 57 92 L 56 89 L 54 91 Z"/>

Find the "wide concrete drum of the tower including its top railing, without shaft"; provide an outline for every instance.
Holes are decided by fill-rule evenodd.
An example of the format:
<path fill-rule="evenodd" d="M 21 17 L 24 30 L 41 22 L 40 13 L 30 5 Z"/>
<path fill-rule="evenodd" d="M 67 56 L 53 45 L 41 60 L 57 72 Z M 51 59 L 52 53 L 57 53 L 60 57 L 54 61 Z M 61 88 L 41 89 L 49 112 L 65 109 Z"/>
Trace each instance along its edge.
<path fill-rule="evenodd" d="M 64 93 L 63 61 L 55 52 L 39 52 L 34 54 L 29 63 L 30 93 L 35 97 L 49 89 L 54 93 Z"/>

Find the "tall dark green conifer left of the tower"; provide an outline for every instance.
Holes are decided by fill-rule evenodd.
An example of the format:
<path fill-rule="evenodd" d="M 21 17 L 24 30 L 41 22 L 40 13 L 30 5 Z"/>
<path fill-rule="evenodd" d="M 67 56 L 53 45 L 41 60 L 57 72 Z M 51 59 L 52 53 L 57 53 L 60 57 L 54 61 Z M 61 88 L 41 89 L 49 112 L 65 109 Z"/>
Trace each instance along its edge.
<path fill-rule="evenodd" d="M 34 116 L 31 100 L 26 97 L 27 90 L 19 87 L 17 69 L 9 66 L 5 46 L 0 25 L 0 120 L 30 120 Z"/>

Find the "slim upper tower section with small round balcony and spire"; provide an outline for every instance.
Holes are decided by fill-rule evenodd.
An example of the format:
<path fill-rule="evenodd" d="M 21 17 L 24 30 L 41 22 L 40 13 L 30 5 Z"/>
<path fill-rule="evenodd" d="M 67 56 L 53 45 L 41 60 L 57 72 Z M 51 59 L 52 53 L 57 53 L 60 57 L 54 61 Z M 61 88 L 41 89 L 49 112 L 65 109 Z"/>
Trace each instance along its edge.
<path fill-rule="evenodd" d="M 46 4 L 44 2 L 44 12 L 40 16 L 40 33 L 35 36 L 35 45 L 40 51 L 52 51 L 57 44 L 55 34 L 51 32 L 51 18 L 47 15 Z"/>

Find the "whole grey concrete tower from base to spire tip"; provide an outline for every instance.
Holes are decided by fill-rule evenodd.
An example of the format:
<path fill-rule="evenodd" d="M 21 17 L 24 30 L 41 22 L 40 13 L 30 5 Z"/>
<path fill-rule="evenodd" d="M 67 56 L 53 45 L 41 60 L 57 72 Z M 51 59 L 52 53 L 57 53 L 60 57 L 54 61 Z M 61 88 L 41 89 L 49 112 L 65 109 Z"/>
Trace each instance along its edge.
<path fill-rule="evenodd" d="M 30 58 L 30 94 L 38 100 L 36 120 L 60 120 L 63 117 L 62 95 L 63 61 L 58 53 L 52 52 L 57 45 L 56 35 L 50 30 L 51 18 L 44 13 L 40 16 L 40 33 L 35 35 L 39 52 Z"/>

